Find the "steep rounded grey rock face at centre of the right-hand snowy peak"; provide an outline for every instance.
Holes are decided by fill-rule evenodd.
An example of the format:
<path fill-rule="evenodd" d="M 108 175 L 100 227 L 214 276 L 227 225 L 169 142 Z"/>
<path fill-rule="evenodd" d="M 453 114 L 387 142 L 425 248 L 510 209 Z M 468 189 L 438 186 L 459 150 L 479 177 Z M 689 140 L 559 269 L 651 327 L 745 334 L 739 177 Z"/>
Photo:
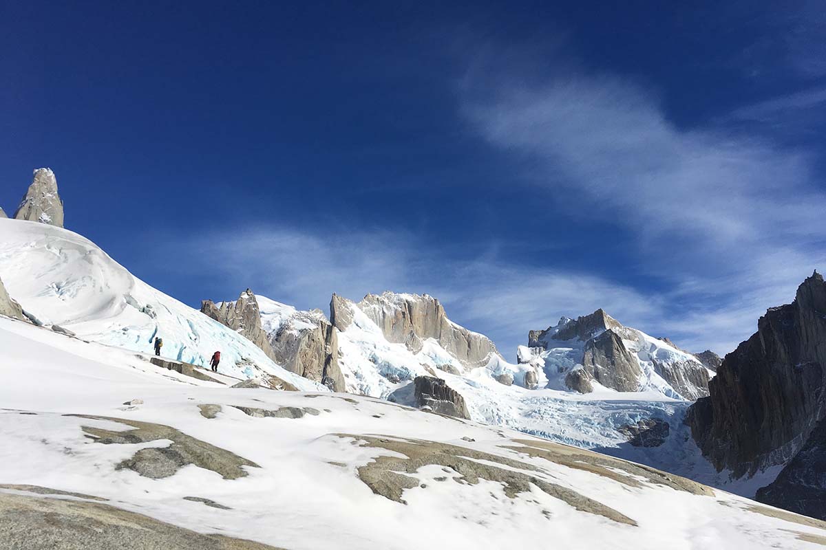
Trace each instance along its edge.
<path fill-rule="evenodd" d="M 623 344 L 622 337 L 608 329 L 588 341 L 582 360 L 585 372 L 606 388 L 619 392 L 636 392 L 642 371 L 639 363 Z"/>

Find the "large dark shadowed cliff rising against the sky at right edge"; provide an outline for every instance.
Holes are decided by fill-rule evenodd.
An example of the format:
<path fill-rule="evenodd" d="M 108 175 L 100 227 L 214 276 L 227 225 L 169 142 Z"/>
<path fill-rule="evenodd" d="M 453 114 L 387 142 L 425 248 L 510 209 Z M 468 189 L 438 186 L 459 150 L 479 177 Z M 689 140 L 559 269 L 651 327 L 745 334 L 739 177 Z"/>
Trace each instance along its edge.
<path fill-rule="evenodd" d="M 816 271 L 726 355 L 686 422 L 706 458 L 734 477 L 784 464 L 824 417 L 826 284 Z"/>

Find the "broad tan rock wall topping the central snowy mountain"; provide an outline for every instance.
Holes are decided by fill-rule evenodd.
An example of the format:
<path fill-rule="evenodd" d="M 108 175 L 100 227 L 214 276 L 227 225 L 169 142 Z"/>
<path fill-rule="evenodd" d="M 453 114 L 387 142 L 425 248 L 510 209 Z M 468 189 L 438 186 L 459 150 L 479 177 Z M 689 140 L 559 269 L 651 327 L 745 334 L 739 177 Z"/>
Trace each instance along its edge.
<path fill-rule="evenodd" d="M 334 295 L 330 319 L 339 330 L 346 330 L 352 322 L 353 306 L 382 329 L 387 341 L 404 344 L 413 353 L 422 349 L 425 340 L 433 338 L 470 369 L 486 365 L 494 355 L 501 357 L 487 336 L 450 321 L 439 300 L 428 294 L 368 294 L 356 304 Z"/>

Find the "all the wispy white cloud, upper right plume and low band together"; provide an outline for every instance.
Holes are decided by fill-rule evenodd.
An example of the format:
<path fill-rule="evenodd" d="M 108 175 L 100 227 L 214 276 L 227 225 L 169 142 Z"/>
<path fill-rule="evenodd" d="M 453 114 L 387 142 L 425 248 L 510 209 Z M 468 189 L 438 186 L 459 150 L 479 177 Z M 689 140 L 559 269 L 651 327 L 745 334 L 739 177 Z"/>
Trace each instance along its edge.
<path fill-rule="evenodd" d="M 596 308 L 686 349 L 727 352 L 766 308 L 789 302 L 814 267 L 826 266 L 826 197 L 809 153 L 722 124 L 678 128 L 656 94 L 572 63 L 548 82 L 500 69 L 475 63 L 461 81 L 461 101 L 472 128 L 510 153 L 508 185 L 521 182 L 534 199 L 548 200 L 549 219 L 564 209 L 581 214 L 582 230 L 589 220 L 621 228 L 603 237 L 625 251 L 621 268 L 634 276 L 615 278 L 620 266 L 607 260 L 596 270 L 558 269 L 553 257 L 520 265 L 492 245 L 457 253 L 414 233 L 335 219 L 301 229 L 216 228 L 173 243 L 176 254 L 192 254 L 186 261 L 195 269 L 209 259 L 228 293 L 215 299 L 250 286 L 299 308 L 326 309 L 333 292 L 433 294 L 510 358 L 530 329 Z M 819 99 L 791 103 L 807 101 Z M 633 237 L 616 242 L 620 233 Z M 599 265 L 604 253 L 583 248 L 582 266 Z M 657 284 L 617 282 L 635 279 Z"/>

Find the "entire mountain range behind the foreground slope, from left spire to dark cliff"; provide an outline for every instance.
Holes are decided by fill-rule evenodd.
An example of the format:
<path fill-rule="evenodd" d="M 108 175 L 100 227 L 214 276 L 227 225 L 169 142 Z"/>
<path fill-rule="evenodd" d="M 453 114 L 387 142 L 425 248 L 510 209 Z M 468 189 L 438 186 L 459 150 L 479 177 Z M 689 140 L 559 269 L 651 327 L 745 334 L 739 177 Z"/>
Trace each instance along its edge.
<path fill-rule="evenodd" d="M 817 272 L 724 360 L 599 309 L 529 331 L 513 364 L 427 294 L 333 294 L 327 315 L 244 289 L 189 308 L 63 229 L 48 169 L 35 172 L 16 217 L 0 220 L 7 317 L 141 354 L 159 337 L 162 355 L 195 367 L 221 350 L 226 376 L 512 428 L 826 518 L 826 284 Z"/>

